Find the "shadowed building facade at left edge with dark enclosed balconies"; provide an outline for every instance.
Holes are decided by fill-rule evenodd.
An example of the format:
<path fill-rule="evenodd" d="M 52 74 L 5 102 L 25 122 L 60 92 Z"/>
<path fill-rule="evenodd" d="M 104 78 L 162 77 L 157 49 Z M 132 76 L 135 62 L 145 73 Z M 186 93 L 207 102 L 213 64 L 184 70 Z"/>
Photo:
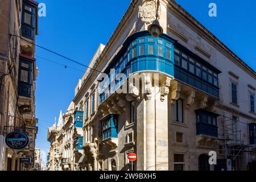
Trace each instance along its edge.
<path fill-rule="evenodd" d="M 38 34 L 38 3 L 32 0 L 0 1 L 0 170 L 22 171 L 33 167 L 35 138 L 36 67 L 35 36 Z M 13 131 L 28 134 L 23 150 L 6 146 Z M 31 158 L 21 163 L 20 158 Z"/>

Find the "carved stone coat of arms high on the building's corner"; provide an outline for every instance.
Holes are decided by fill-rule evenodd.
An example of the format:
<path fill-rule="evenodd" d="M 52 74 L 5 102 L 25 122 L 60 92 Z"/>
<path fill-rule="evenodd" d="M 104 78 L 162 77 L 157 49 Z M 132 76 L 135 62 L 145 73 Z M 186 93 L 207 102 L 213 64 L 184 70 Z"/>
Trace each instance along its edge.
<path fill-rule="evenodd" d="M 144 0 L 142 6 L 139 6 L 139 15 L 143 22 L 147 24 L 152 23 L 156 15 L 155 1 Z"/>

